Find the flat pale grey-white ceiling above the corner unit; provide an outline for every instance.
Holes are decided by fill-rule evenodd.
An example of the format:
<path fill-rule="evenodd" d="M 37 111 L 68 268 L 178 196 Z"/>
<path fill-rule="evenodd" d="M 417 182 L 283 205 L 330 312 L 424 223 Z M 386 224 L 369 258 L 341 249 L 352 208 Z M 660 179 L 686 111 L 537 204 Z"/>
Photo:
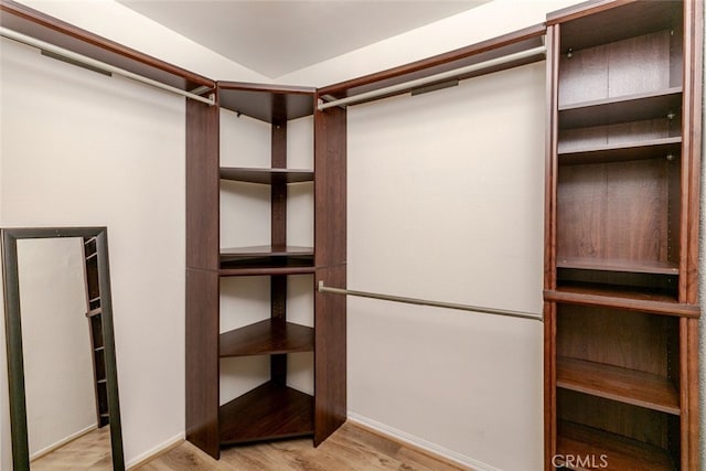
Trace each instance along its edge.
<path fill-rule="evenodd" d="M 118 0 L 269 78 L 490 0 Z"/>

